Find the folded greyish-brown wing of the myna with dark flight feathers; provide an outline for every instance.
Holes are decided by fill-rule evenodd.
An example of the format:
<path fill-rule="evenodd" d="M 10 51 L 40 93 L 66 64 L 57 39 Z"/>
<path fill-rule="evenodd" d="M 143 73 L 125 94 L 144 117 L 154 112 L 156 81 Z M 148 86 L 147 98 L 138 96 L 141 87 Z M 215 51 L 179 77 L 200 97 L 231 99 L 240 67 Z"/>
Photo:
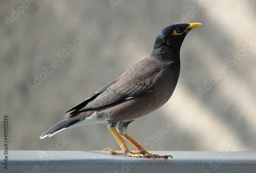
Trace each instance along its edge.
<path fill-rule="evenodd" d="M 67 116 L 75 116 L 84 111 L 100 111 L 151 92 L 160 69 L 152 67 L 152 63 L 148 66 L 145 64 L 149 62 L 141 60 L 116 80 L 96 91 L 86 101 L 68 110 L 66 113 L 70 113 Z"/>

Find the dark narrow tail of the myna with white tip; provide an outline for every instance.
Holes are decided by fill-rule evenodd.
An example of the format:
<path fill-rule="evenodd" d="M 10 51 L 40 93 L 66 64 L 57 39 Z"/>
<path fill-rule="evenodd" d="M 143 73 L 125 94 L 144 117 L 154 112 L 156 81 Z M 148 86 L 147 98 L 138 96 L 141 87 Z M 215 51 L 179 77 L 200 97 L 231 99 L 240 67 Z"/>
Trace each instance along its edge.
<path fill-rule="evenodd" d="M 56 133 L 62 131 L 63 129 L 68 128 L 71 125 L 73 125 L 81 120 L 84 120 L 87 117 L 90 117 L 92 114 L 93 114 L 93 112 L 83 112 L 76 116 L 70 116 L 69 118 L 54 125 L 48 131 L 46 131 L 44 134 L 42 134 L 39 138 L 43 139 L 45 137 L 51 137 L 51 136 L 55 135 Z"/>

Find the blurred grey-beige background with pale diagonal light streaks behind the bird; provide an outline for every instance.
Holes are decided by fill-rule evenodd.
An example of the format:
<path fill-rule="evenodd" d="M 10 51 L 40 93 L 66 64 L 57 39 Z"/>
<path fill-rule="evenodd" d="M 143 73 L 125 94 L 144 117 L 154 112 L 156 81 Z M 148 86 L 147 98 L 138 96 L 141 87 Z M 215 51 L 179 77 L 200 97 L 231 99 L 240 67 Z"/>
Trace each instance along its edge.
<path fill-rule="evenodd" d="M 148 150 L 256 149 L 255 1 L 2 1 L 0 16 L 9 149 L 119 149 L 106 124 L 39 136 L 147 57 L 161 29 L 194 22 L 173 96 L 127 133 Z"/>

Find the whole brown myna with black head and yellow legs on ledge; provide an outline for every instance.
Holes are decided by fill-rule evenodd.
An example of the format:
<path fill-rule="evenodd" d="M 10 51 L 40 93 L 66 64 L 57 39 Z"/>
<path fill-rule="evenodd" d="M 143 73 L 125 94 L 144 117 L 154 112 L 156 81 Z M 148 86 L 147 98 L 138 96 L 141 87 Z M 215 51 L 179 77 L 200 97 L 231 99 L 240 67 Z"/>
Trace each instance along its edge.
<path fill-rule="evenodd" d="M 66 128 L 106 123 L 121 150 L 105 148 L 112 155 L 136 158 L 173 158 L 147 150 L 127 135 L 127 126 L 165 104 L 172 96 L 180 74 L 180 49 L 188 32 L 201 23 L 174 24 L 162 29 L 152 53 L 134 64 L 88 99 L 66 111 L 66 118 L 40 136 L 51 137 Z M 130 142 L 138 152 L 127 148 Z"/>

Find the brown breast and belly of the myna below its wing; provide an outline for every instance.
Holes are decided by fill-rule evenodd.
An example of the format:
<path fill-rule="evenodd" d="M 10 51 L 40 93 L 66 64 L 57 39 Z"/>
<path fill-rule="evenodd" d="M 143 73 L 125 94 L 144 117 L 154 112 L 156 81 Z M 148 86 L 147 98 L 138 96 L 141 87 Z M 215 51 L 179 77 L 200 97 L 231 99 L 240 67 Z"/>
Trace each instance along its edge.
<path fill-rule="evenodd" d="M 151 92 L 113 106 L 108 113 L 109 119 L 115 122 L 131 121 L 159 109 L 172 96 L 178 78 L 179 66 L 161 70 Z"/>

